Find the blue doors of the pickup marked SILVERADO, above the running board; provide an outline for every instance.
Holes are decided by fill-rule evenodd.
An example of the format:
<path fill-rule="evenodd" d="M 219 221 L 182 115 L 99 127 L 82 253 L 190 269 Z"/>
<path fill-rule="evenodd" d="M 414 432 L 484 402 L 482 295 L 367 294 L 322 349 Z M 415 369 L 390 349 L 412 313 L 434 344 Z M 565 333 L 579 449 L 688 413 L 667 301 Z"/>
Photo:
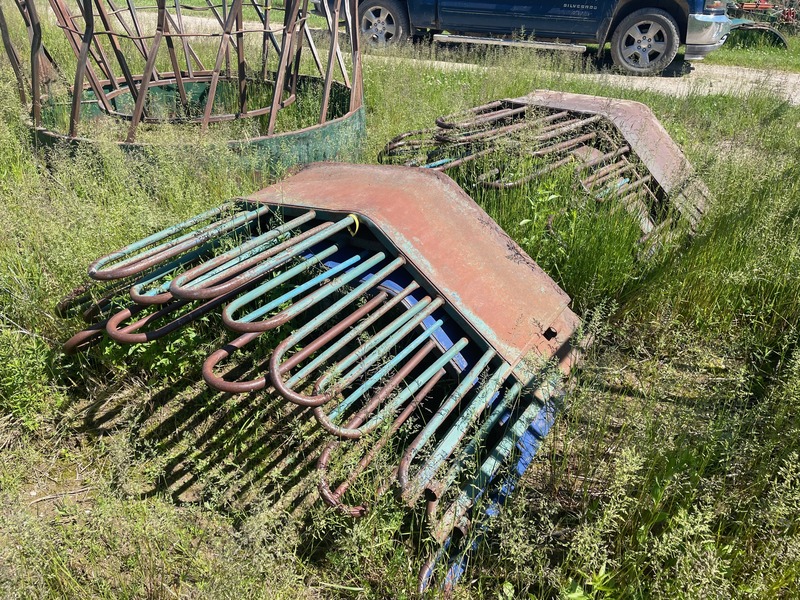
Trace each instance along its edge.
<path fill-rule="evenodd" d="M 454 32 L 564 40 L 593 38 L 609 0 L 439 0 L 439 27 Z"/>

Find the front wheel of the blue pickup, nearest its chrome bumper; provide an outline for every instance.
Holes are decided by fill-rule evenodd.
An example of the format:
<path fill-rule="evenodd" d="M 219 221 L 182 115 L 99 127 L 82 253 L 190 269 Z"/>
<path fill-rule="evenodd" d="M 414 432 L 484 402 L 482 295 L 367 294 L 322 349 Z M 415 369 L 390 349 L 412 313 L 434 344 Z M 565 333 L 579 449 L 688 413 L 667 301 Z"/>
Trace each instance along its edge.
<path fill-rule="evenodd" d="M 668 12 L 642 8 L 620 21 L 611 36 L 614 64 L 631 75 L 655 75 L 675 59 L 678 24 Z"/>

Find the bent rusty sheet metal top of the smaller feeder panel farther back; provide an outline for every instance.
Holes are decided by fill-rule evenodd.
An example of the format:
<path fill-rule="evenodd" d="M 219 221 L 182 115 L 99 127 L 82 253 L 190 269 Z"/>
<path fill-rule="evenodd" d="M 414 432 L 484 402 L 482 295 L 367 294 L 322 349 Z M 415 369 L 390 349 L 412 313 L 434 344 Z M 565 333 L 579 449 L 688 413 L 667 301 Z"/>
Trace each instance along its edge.
<path fill-rule="evenodd" d="M 692 226 L 705 212 L 709 192 L 653 112 L 641 102 L 536 90 L 515 99 L 556 110 L 602 115 L 625 136 L 659 185 Z"/>

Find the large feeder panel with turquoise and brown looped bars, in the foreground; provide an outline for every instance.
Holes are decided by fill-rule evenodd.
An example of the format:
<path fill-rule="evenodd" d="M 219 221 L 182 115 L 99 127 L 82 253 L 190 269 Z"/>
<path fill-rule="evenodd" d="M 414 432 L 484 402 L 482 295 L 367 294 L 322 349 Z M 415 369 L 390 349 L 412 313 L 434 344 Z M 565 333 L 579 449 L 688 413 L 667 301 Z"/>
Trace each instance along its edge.
<path fill-rule="evenodd" d="M 427 503 L 439 557 L 514 489 L 577 359 L 570 298 L 452 180 L 420 169 L 311 165 L 89 275 L 107 287 L 59 307 L 92 322 L 67 352 L 219 314 L 231 337 L 206 383 L 304 407 L 327 436 L 324 501 L 354 517 L 375 488 Z M 248 356 L 257 377 L 231 375 Z M 379 483 L 358 492 L 365 473 Z"/>

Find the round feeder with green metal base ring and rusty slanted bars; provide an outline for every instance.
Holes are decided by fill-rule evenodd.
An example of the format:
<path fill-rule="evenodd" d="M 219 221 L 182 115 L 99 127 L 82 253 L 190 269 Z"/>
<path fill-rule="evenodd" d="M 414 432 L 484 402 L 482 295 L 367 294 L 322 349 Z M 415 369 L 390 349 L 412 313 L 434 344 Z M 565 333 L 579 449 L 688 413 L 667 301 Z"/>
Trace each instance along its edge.
<path fill-rule="evenodd" d="M 192 129 L 213 130 L 283 166 L 357 151 L 354 0 L 323 3 L 313 29 L 308 0 L 12 2 L 22 23 L 11 28 L 11 11 L 0 7 L 3 45 L 40 141 L 188 145 Z"/>

